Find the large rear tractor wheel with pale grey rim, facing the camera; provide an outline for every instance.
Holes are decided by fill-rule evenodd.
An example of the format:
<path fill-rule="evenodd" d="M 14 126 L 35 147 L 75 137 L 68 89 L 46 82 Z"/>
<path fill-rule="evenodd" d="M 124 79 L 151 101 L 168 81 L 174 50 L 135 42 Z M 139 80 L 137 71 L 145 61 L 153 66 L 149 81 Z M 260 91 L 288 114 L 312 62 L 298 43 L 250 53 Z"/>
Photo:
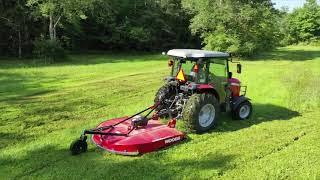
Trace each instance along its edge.
<path fill-rule="evenodd" d="M 219 115 L 219 103 L 212 94 L 193 94 L 182 112 L 187 129 L 196 133 L 213 128 Z"/>

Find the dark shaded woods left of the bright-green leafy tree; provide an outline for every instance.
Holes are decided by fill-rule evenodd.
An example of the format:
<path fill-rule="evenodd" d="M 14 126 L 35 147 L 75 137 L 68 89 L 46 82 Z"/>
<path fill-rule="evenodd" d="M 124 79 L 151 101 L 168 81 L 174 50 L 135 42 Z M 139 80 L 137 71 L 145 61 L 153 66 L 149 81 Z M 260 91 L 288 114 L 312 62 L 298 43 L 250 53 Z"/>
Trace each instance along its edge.
<path fill-rule="evenodd" d="M 0 0 L 0 55 L 24 43 L 25 52 L 48 58 L 65 48 L 197 47 L 191 17 L 181 0 Z"/>

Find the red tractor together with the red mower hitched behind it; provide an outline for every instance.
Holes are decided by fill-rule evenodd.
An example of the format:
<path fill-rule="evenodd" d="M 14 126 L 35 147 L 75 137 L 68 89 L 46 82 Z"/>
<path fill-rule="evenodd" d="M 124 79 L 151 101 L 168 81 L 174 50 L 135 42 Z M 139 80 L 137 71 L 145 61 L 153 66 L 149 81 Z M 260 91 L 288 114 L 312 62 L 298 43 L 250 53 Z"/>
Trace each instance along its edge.
<path fill-rule="evenodd" d="M 246 87 L 232 77 L 229 71 L 232 59 L 228 53 L 173 49 L 167 54 L 171 75 L 156 93 L 154 105 L 132 116 L 106 120 L 94 129 L 84 130 L 70 146 L 73 155 L 87 151 L 89 134 L 98 147 L 109 152 L 138 155 L 185 139 L 186 135 L 175 129 L 178 119 L 191 131 L 203 133 L 215 126 L 220 112 L 231 112 L 234 119 L 250 117 L 252 105 L 245 97 Z M 237 72 L 241 73 L 239 63 Z M 161 117 L 169 117 L 168 124 L 162 124 Z"/>

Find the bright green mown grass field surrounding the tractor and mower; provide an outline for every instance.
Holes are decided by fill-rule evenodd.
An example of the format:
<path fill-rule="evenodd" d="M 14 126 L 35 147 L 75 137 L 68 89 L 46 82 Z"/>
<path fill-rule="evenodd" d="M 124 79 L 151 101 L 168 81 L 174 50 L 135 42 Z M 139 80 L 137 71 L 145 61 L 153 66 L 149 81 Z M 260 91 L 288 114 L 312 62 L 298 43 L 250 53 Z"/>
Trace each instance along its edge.
<path fill-rule="evenodd" d="M 74 55 L 65 64 L 0 61 L 0 179 L 320 179 L 320 47 L 243 61 L 254 114 L 139 157 L 69 144 L 85 128 L 152 104 L 161 55 Z"/>

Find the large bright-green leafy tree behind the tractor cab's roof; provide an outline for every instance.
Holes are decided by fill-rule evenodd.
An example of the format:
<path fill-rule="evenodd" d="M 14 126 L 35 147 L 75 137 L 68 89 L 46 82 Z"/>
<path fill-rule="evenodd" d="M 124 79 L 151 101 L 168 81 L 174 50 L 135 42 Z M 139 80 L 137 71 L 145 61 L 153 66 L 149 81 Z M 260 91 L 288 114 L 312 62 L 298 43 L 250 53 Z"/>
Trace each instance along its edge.
<path fill-rule="evenodd" d="M 194 17 L 190 29 L 206 49 L 252 55 L 277 45 L 277 11 L 270 0 L 183 0 Z"/>

